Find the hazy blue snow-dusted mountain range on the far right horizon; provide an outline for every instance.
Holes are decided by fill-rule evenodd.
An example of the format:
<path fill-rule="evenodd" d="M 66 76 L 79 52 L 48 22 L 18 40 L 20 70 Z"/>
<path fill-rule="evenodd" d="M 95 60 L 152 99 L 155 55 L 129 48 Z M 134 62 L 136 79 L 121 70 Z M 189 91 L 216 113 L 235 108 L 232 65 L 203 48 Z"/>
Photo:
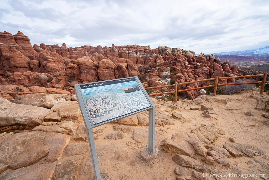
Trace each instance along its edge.
<path fill-rule="evenodd" d="M 260 60 L 266 60 L 266 57 L 269 56 L 269 46 L 262 47 L 259 49 L 253 49 L 253 50 L 214 53 L 214 55 L 217 57 L 220 57 L 222 55 L 250 56 L 250 57 L 260 59 Z"/>

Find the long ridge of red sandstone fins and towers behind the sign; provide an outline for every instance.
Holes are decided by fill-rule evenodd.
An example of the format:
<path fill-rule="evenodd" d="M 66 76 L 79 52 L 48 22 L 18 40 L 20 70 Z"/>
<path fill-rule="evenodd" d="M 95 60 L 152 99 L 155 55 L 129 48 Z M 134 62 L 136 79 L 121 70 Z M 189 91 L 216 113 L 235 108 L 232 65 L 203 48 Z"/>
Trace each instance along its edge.
<path fill-rule="evenodd" d="M 73 86 L 77 83 L 123 77 L 138 76 L 144 86 L 158 86 L 170 84 L 171 79 L 182 83 L 235 74 L 238 74 L 236 67 L 231 67 L 227 60 L 221 63 L 213 54 L 196 56 L 194 51 L 166 46 L 156 49 L 114 44 L 112 47 L 84 45 L 75 48 L 65 43 L 62 46 L 44 43 L 32 46 L 22 32 L 14 36 L 0 32 L 1 84 L 55 87 L 74 93 Z M 202 85 L 194 83 L 180 88 Z M 197 91 L 188 91 L 187 95 L 194 98 Z"/>

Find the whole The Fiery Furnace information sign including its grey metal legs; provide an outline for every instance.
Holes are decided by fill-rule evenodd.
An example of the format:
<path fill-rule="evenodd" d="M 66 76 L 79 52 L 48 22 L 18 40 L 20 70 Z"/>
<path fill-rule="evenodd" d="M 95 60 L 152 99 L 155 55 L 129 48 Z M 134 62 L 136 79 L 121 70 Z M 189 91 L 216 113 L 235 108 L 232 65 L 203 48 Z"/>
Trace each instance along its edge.
<path fill-rule="evenodd" d="M 93 137 L 94 127 L 148 110 L 148 149 L 154 152 L 155 105 L 137 76 L 75 84 L 74 88 L 87 128 L 95 179 L 101 180 Z"/>

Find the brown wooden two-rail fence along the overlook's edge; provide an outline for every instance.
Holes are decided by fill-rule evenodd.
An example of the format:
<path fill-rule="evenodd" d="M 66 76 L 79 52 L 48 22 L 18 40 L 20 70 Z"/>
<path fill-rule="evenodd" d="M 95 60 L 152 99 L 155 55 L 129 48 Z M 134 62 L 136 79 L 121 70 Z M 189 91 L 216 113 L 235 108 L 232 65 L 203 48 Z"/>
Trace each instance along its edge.
<path fill-rule="evenodd" d="M 245 78 L 245 77 L 263 77 L 263 81 L 254 81 L 254 82 L 245 82 L 245 83 L 229 83 L 229 84 L 218 84 L 218 80 L 219 79 L 235 79 L 235 78 Z M 264 74 L 256 74 L 256 75 L 248 75 L 248 76 L 232 76 L 232 77 L 218 77 L 216 76 L 215 78 L 210 78 L 210 79 L 202 79 L 202 80 L 198 80 L 198 81 L 189 81 L 189 82 L 185 82 L 185 83 L 175 83 L 175 84 L 171 84 L 171 85 L 166 85 L 166 86 L 155 86 L 155 87 L 146 87 L 145 89 L 160 89 L 160 88 L 164 88 L 164 87 L 174 87 L 174 91 L 171 92 L 164 92 L 164 93 L 157 93 L 157 94 L 150 94 L 149 96 L 159 96 L 162 94 L 175 94 L 175 102 L 177 101 L 177 96 L 179 92 L 184 92 L 184 91 L 191 91 L 191 90 L 196 90 L 196 89 L 204 89 L 207 87 L 214 87 L 214 92 L 213 95 L 216 95 L 217 92 L 217 87 L 218 86 L 231 86 L 231 85 L 240 85 L 240 84 L 262 84 L 261 85 L 261 91 L 260 94 L 263 94 L 263 90 L 264 90 L 264 86 L 265 83 L 269 83 L 269 81 L 266 81 L 266 77 L 267 77 L 267 72 L 265 72 Z M 204 81 L 212 81 L 214 80 L 215 83 L 209 86 L 202 86 L 202 87 L 196 87 L 196 88 L 191 88 L 191 89 L 182 89 L 182 90 L 178 90 L 178 86 L 184 85 L 184 84 L 193 84 L 193 83 L 199 83 L 199 82 L 204 82 Z"/>

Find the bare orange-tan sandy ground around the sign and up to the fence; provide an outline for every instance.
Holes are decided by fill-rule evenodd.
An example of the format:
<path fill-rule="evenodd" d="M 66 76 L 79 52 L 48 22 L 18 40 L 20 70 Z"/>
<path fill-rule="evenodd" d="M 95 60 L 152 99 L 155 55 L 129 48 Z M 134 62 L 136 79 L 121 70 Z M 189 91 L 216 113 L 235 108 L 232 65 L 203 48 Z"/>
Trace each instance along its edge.
<path fill-rule="evenodd" d="M 155 146 L 159 148 L 159 153 L 153 167 L 149 167 L 147 162 L 141 156 L 141 149 L 148 144 L 147 138 L 140 144 L 131 138 L 132 133 L 124 133 L 125 137 L 122 139 L 108 140 L 104 139 L 104 137 L 113 132 L 112 127 L 115 124 L 105 124 L 94 128 L 93 131 L 100 128 L 103 128 L 104 130 L 104 133 L 95 140 L 100 172 L 105 172 L 111 179 L 175 179 L 176 175 L 174 174 L 174 169 L 177 165 L 172 161 L 172 157 L 175 154 L 164 152 L 160 147 L 160 143 L 167 137 L 171 138 L 174 133 L 189 133 L 199 125 L 214 125 L 225 131 L 226 134 L 220 135 L 214 142 L 216 145 L 222 147 L 225 142 L 230 142 L 230 137 L 233 137 L 238 143 L 252 145 L 268 153 L 269 130 L 268 126 L 261 123 L 261 121 L 266 120 L 266 118 L 261 116 L 265 111 L 254 109 L 257 100 L 250 97 L 251 94 L 259 96 L 258 92 L 247 91 L 233 95 L 215 96 L 217 98 L 227 98 L 229 101 L 226 104 L 220 102 L 209 103 L 206 100 L 203 100 L 203 104 L 210 104 L 213 107 L 213 110 L 218 114 L 211 114 L 211 118 L 202 117 L 202 111 L 200 110 L 190 110 L 190 106 L 201 105 L 191 104 L 191 100 L 178 101 L 176 105 L 179 107 L 179 110 L 173 110 L 168 106 L 159 103 L 156 104 L 156 112 L 161 112 L 169 117 L 171 117 L 171 113 L 181 113 L 182 117 L 188 122 L 182 123 L 180 120 L 175 120 L 171 117 L 174 119 L 175 125 L 155 127 L 155 130 L 164 132 L 164 136 L 155 135 Z M 162 101 L 162 103 L 165 104 L 164 101 Z M 231 109 L 235 112 L 231 112 Z M 252 112 L 254 116 L 246 116 L 244 114 L 246 111 Z M 133 128 L 148 130 L 147 126 L 133 126 Z M 122 153 L 120 156 L 127 155 L 128 158 L 121 159 L 117 157 L 116 154 L 118 152 Z M 269 163 L 268 158 L 262 159 L 257 156 L 254 158 L 261 159 L 267 164 Z M 251 168 L 248 162 L 251 159 L 253 158 L 231 157 L 229 158 L 230 168 L 222 168 L 221 172 L 227 173 L 232 167 L 238 166 L 243 173 L 248 173 Z M 86 160 L 87 158 L 84 159 L 83 163 L 86 163 Z M 86 165 L 87 163 L 88 166 Z M 87 163 L 82 165 L 84 168 L 80 168 L 79 176 L 77 177 L 78 179 L 94 178 L 92 163 L 89 160 Z M 267 178 L 268 176 L 269 174 L 267 175 Z"/>

